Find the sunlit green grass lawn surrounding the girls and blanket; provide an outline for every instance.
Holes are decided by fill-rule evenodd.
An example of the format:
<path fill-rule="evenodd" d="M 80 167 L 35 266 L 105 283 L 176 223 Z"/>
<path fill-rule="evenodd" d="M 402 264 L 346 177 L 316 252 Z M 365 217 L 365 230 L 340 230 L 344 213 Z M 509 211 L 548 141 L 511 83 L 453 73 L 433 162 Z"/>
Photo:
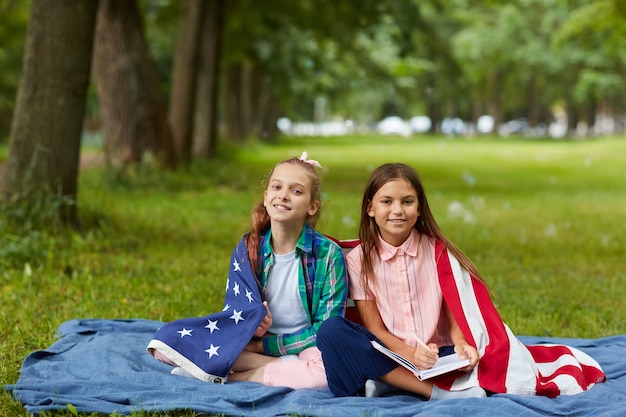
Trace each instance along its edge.
<path fill-rule="evenodd" d="M 24 357 L 53 343 L 69 319 L 217 311 L 230 251 L 264 177 L 303 150 L 325 167 L 322 232 L 355 237 L 369 172 L 408 163 L 444 233 L 474 260 L 516 334 L 624 333 L 626 140 L 285 139 L 229 148 L 219 161 L 177 172 L 147 168 L 113 182 L 99 169 L 82 172 L 83 234 L 33 239 L 20 246 L 22 257 L 5 259 L 0 383 L 14 383 Z M 2 245 L 26 238 L 0 230 Z M 3 392 L 0 415 L 28 414 Z"/>

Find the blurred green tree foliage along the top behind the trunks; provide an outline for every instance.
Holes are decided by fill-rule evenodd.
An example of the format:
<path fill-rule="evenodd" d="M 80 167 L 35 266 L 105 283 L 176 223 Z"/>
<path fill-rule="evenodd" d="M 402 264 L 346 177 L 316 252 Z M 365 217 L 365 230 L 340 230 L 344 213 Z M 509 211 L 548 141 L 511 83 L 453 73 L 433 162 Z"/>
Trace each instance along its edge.
<path fill-rule="evenodd" d="M 428 112 L 471 120 L 495 112 L 496 105 L 504 120 L 526 116 L 532 123 L 535 118 L 549 123 L 553 107 L 563 103 L 582 120 L 599 103 L 613 111 L 626 107 L 623 4 L 225 2 L 221 68 L 224 73 L 230 65 L 251 68 L 252 94 L 269 93 L 282 115 L 293 120 L 312 120 L 318 98 L 325 99 L 326 118 L 357 123 Z M 139 5 L 167 97 L 180 2 Z M 29 1 L 0 0 L 0 142 L 9 133 L 29 6 Z M 87 114 L 97 119 L 93 86 Z"/>

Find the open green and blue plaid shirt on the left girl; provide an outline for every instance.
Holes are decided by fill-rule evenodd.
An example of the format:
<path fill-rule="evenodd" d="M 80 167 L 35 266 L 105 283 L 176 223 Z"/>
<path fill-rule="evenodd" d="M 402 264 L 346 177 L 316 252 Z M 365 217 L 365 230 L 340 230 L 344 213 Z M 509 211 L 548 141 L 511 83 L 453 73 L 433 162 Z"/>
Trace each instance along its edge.
<path fill-rule="evenodd" d="M 259 281 L 263 288 L 274 263 L 271 236 L 270 229 L 263 236 L 260 245 L 263 274 Z M 311 326 L 296 333 L 264 338 L 263 350 L 273 356 L 297 354 L 315 346 L 317 329 L 322 322 L 332 316 L 343 316 L 346 312 L 346 267 L 339 246 L 307 223 L 296 243 L 296 257 L 301 261 L 298 268 L 298 289 Z"/>

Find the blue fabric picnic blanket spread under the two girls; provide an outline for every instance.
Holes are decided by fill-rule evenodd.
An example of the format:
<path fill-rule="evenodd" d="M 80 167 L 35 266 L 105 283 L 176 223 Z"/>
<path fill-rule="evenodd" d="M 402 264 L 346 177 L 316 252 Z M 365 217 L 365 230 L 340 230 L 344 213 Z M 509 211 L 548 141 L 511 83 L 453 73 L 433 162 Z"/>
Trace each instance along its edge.
<path fill-rule="evenodd" d="M 424 401 L 410 395 L 335 398 L 329 390 L 217 385 L 172 375 L 171 367 L 146 352 L 162 325 L 143 319 L 70 320 L 59 327 L 59 340 L 28 355 L 18 381 L 4 388 L 34 414 L 71 404 L 79 412 L 120 415 L 191 409 L 226 416 L 626 416 L 626 335 L 520 337 L 525 344 L 561 343 L 594 357 L 607 381 L 578 395 Z"/>

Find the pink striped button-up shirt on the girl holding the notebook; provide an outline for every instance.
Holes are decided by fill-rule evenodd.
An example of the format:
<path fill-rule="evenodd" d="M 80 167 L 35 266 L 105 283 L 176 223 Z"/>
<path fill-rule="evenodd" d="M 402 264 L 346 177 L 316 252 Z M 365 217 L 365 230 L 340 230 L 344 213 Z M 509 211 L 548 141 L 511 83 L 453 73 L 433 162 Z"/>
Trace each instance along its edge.
<path fill-rule="evenodd" d="M 415 336 L 438 346 L 452 345 L 443 295 L 437 277 L 435 241 L 413 230 L 399 246 L 380 238 L 380 257 L 372 259 L 376 282 L 361 282 L 362 247 L 347 256 L 350 297 L 376 300 L 380 316 L 393 335 L 417 346 Z"/>

